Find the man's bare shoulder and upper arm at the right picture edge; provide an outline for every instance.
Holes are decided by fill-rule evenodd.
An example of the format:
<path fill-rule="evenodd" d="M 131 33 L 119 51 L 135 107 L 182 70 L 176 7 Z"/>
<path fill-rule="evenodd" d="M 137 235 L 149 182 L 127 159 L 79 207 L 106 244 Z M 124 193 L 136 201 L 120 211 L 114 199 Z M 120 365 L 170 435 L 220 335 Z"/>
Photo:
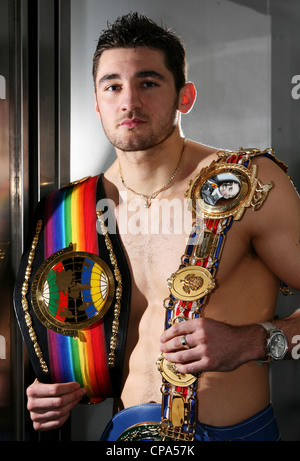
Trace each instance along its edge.
<path fill-rule="evenodd" d="M 300 199 L 289 177 L 274 162 L 259 158 L 258 177 L 274 186 L 262 208 L 250 215 L 253 247 L 267 267 L 300 290 Z"/>

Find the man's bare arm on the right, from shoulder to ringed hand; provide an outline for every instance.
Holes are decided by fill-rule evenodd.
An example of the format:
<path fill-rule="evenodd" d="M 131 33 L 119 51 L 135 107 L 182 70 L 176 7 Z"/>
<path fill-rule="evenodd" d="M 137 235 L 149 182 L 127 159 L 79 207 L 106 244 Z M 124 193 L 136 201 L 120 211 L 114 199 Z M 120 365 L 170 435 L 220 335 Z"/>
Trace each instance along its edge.
<path fill-rule="evenodd" d="M 299 290 L 299 196 L 290 179 L 274 162 L 259 158 L 254 163 L 258 165 L 259 179 L 264 184 L 272 181 L 274 187 L 260 210 L 247 210 L 242 225 L 264 264 L 279 280 Z M 299 307 L 295 306 L 295 310 Z M 287 357 L 290 357 L 293 338 L 300 335 L 300 310 L 273 323 L 286 334 Z M 183 336 L 190 346 L 188 350 L 181 344 Z M 266 336 L 265 330 L 257 324 L 235 327 L 207 318 L 197 319 L 166 330 L 161 337 L 161 351 L 182 373 L 231 371 L 249 360 L 263 360 Z"/>

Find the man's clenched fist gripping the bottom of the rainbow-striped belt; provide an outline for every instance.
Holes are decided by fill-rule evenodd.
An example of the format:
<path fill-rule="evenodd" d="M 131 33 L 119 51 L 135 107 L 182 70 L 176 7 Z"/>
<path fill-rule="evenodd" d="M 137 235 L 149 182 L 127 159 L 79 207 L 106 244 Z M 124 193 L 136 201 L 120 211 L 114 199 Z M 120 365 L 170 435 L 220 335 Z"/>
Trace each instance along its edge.
<path fill-rule="evenodd" d="M 39 381 L 28 387 L 27 408 L 37 431 L 61 427 L 85 395 L 79 383 L 42 384 Z"/>

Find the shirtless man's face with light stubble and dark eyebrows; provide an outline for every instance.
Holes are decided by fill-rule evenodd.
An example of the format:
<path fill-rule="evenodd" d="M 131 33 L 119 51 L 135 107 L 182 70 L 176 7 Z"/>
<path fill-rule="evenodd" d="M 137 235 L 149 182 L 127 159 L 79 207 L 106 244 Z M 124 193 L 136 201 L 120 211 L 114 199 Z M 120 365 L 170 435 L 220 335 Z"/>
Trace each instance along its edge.
<path fill-rule="evenodd" d="M 165 140 L 178 124 L 177 107 L 174 77 L 161 51 L 138 47 L 103 52 L 96 112 L 116 148 L 146 150 Z"/>

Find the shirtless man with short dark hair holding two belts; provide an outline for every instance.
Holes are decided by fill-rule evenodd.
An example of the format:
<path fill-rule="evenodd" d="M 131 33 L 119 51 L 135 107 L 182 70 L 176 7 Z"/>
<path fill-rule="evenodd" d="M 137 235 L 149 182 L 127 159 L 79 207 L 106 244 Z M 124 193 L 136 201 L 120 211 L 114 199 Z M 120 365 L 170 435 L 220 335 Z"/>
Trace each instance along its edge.
<path fill-rule="evenodd" d="M 126 215 L 128 222 L 139 204 L 140 229 L 145 230 L 146 225 L 151 229 L 162 200 L 176 198 L 183 206 L 189 181 L 200 171 L 210 171 L 211 165 L 215 174 L 218 165 L 216 149 L 185 142 L 182 136 L 180 116 L 191 110 L 196 98 L 194 85 L 185 79 L 183 47 L 172 33 L 147 18 L 125 16 L 100 37 L 94 80 L 96 114 L 117 153 L 117 161 L 104 174 L 106 196 L 114 204 L 116 216 Z M 196 440 L 279 438 L 269 406 L 268 366 L 257 363 L 266 359 L 268 333 L 258 324 L 272 322 L 282 330 L 289 344 L 282 358 L 290 357 L 292 338 L 300 331 L 299 312 L 273 318 L 279 281 L 300 288 L 300 203 L 276 162 L 253 156 L 252 164 L 261 184 L 272 182 L 273 187 L 269 186 L 261 208 L 253 212 L 249 203 L 242 218 L 232 223 L 215 280 L 206 275 L 211 285 L 200 315 L 189 318 L 181 310 L 178 318 L 184 321 L 164 324 L 165 311 L 171 310 L 164 300 L 171 300 L 169 288 L 174 290 L 175 286 L 172 274 L 185 253 L 187 233 L 121 233 L 132 282 L 114 425 L 121 421 L 124 409 L 125 418 L 138 410 L 136 406 L 147 411 L 143 404 L 154 408 L 160 418 L 162 376 L 156 361 L 161 353 L 165 363 L 173 364 L 168 367 L 179 380 L 199 376 L 197 385 L 193 381 L 190 387 L 172 388 L 177 392 L 171 396 L 170 407 L 175 432 L 183 420 L 185 424 L 186 418 L 191 419 L 191 403 L 182 396 L 182 389 L 191 389 L 198 403 L 192 431 L 192 436 L 196 431 Z M 227 166 L 222 163 L 222 168 Z M 235 168 L 244 168 L 243 175 L 248 178 L 246 166 Z M 254 184 L 256 179 L 251 181 Z M 119 221 L 118 225 L 121 229 L 124 223 Z M 185 277 L 186 292 L 198 290 L 199 285 L 190 281 L 201 279 L 202 283 L 204 269 L 201 274 L 202 278 L 198 272 Z M 160 371 L 162 367 L 159 362 Z M 168 398 L 171 387 L 167 391 L 164 387 Z M 60 427 L 85 392 L 76 382 L 35 381 L 27 389 L 35 429 Z M 194 396 L 190 400 L 194 401 Z M 188 416 L 179 416 L 178 422 L 182 405 Z M 115 437 L 110 426 L 104 439 Z"/>

